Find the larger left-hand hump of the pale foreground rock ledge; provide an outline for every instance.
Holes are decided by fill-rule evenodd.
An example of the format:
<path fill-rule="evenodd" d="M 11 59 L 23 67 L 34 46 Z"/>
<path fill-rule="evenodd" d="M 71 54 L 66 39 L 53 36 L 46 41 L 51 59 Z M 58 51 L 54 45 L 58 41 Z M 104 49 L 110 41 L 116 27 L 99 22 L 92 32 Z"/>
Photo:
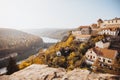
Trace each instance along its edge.
<path fill-rule="evenodd" d="M 47 65 L 33 64 L 23 70 L 13 73 L 9 80 L 59 80 L 65 75 L 63 68 L 51 68 Z"/>

